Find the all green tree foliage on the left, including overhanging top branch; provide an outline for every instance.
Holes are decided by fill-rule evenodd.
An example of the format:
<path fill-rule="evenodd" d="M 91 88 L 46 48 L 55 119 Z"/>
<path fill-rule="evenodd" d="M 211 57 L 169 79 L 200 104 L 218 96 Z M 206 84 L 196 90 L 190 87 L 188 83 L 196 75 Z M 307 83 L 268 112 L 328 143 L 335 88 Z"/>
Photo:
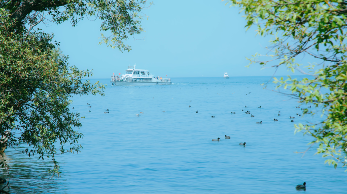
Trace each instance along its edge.
<path fill-rule="evenodd" d="M 0 149 L 18 148 L 39 159 L 51 158 L 59 172 L 57 154 L 80 152 L 80 113 L 71 112 L 73 95 L 101 94 L 105 86 L 82 81 L 91 71 L 80 71 L 52 43 L 52 35 L 34 26 L 48 20 L 76 26 L 85 17 L 102 21 L 102 41 L 120 51 L 143 31 L 140 14 L 146 1 L 123 0 L 12 0 L 0 2 Z M 100 43 L 101 43 L 100 42 Z M 68 146 L 66 146 L 66 144 Z M 65 146 L 65 147 L 64 147 Z M 4 158 L 0 165 L 7 166 Z"/>

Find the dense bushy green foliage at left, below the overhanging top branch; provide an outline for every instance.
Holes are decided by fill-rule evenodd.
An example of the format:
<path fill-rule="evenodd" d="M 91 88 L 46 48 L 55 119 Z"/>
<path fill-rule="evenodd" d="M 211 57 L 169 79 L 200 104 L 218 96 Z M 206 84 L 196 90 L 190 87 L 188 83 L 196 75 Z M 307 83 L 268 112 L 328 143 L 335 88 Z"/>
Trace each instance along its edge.
<path fill-rule="evenodd" d="M 70 112 L 71 98 L 90 92 L 103 95 L 105 86 L 82 82 L 92 72 L 70 66 L 67 57 L 49 43 L 49 34 L 34 32 L 23 38 L 9 32 L 10 25 L 0 26 L 0 135 L 6 137 L 1 146 L 27 143 L 31 150 L 23 153 L 51 158 L 52 172 L 59 174 L 55 155 L 82 148 L 78 145 L 82 134 L 73 130 L 81 127 L 82 117 Z M 65 143 L 70 147 L 63 148 Z M 6 165 L 4 159 L 2 165 Z"/>

